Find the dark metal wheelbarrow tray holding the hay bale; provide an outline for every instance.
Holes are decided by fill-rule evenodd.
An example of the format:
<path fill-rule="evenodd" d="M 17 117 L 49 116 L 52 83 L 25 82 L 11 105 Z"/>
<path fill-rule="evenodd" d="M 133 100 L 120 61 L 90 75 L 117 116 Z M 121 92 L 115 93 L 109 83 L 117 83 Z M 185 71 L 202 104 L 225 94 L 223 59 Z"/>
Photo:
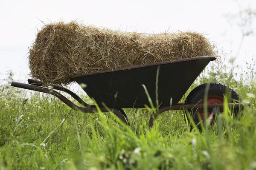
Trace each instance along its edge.
<path fill-rule="evenodd" d="M 213 56 L 177 59 L 147 65 L 119 68 L 72 77 L 100 107 L 109 108 L 150 107 L 143 85 L 156 106 L 156 81 L 160 107 L 176 105 Z M 157 69 L 159 68 L 158 80 Z M 85 86 L 84 86 L 85 85 Z"/>

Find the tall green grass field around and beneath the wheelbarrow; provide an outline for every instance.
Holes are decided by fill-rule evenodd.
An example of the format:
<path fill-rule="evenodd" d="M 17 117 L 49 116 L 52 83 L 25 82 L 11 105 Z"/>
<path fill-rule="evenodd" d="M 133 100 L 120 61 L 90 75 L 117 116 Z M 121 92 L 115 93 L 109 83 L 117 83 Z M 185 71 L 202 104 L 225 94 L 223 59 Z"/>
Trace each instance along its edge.
<path fill-rule="evenodd" d="M 235 88 L 251 107 L 239 120 L 225 110 L 202 133 L 190 132 L 183 111 L 162 113 L 149 129 L 151 111 L 125 109 L 127 127 L 111 113 L 80 113 L 55 97 L 2 85 L 0 170 L 255 170 L 255 65 L 240 70 L 239 81 L 225 66 L 207 68 L 186 96 L 199 84 L 218 81 Z"/>

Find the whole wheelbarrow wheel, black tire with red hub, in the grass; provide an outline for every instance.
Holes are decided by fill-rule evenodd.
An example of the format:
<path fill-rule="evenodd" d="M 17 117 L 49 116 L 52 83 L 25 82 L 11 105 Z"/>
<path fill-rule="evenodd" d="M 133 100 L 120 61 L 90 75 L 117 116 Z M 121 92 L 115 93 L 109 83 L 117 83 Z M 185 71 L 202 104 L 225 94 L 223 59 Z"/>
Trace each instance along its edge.
<path fill-rule="evenodd" d="M 196 88 L 194 88 L 189 95 L 186 98 L 185 105 L 196 105 L 196 104 L 204 104 L 204 95 L 207 88 L 207 83 L 198 85 Z M 224 95 L 225 98 L 227 98 L 227 101 L 229 103 L 234 102 L 240 102 L 241 98 L 239 97 L 239 94 L 229 86 L 219 83 L 219 82 L 210 82 L 209 83 L 209 89 L 207 94 L 207 104 L 219 104 L 224 103 Z M 231 108 L 231 113 L 234 114 L 234 117 L 238 115 L 239 110 L 236 108 Z M 193 121 L 195 122 L 195 125 L 197 125 L 198 129 L 201 130 L 201 125 L 198 123 L 202 120 L 204 123 L 204 109 L 203 108 L 194 108 L 191 110 L 188 110 L 190 113 L 190 116 L 192 117 Z M 222 108 L 213 108 L 208 109 L 207 111 L 207 118 L 209 116 L 212 116 L 210 125 L 214 125 L 215 118 L 218 116 L 218 114 L 222 113 Z M 184 111 L 184 116 L 186 114 L 186 111 Z M 189 121 L 189 119 L 188 119 Z M 189 121 L 190 122 L 190 121 Z"/>

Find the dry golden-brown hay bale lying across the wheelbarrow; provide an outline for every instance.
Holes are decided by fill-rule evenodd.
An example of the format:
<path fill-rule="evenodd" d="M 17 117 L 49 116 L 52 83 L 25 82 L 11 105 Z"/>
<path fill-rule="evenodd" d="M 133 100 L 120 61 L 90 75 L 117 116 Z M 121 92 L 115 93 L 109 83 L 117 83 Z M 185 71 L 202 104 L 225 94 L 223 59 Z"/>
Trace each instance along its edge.
<path fill-rule="evenodd" d="M 45 25 L 29 49 L 30 75 L 67 85 L 89 72 L 215 55 L 201 34 L 140 34 L 58 22 Z"/>

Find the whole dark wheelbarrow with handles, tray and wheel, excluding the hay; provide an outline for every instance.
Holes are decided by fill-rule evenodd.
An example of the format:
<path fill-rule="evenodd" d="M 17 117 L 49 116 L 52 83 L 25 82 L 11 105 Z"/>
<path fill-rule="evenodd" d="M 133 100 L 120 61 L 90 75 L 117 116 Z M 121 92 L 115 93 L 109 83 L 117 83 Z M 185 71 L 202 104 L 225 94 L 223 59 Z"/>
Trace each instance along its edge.
<path fill-rule="evenodd" d="M 70 80 L 77 82 L 85 93 L 94 99 L 102 112 L 111 111 L 127 125 L 130 125 L 130 122 L 123 108 L 146 107 L 157 108 L 149 119 L 149 127 L 153 126 L 154 119 L 160 113 L 181 109 L 188 111 L 195 123 L 198 124 L 200 119 L 205 121 L 205 106 L 207 107 L 207 116 L 217 116 L 223 111 L 224 95 L 226 94 L 230 96 L 227 105 L 234 109 L 235 115 L 239 108 L 250 105 L 250 102 L 241 103 L 239 95 L 233 88 L 219 82 L 209 82 L 197 86 L 189 93 L 184 103 L 178 103 L 195 79 L 213 60 L 215 60 L 213 56 L 177 59 L 86 73 L 72 77 Z M 46 84 L 35 79 L 28 79 L 28 83 L 12 82 L 12 86 L 51 94 L 76 111 L 98 112 L 96 105 L 84 102 L 67 88 Z M 75 105 L 53 89 L 70 94 L 84 107 Z M 206 90 L 208 91 L 207 99 L 204 98 Z"/>

